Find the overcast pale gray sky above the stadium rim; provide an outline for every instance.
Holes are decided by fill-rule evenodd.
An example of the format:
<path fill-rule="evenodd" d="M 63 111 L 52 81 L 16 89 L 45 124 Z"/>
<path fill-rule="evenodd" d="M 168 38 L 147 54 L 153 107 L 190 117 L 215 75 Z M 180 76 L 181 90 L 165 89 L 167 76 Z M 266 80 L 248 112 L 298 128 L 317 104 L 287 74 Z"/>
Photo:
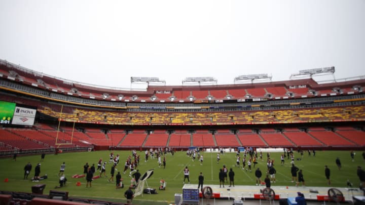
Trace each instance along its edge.
<path fill-rule="evenodd" d="M 83 83 L 365 74 L 365 0 L 0 0 L 0 58 Z M 330 77 L 328 77 L 330 78 Z"/>

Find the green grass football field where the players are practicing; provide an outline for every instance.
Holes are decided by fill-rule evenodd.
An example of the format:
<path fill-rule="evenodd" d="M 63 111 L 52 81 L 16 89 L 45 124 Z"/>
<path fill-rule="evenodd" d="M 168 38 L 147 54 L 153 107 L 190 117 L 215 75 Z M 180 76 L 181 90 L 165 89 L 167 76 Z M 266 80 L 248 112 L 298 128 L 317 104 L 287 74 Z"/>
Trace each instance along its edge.
<path fill-rule="evenodd" d="M 65 175 L 68 179 L 66 187 L 60 190 L 69 192 L 70 197 L 80 198 L 94 198 L 104 199 L 110 201 L 125 202 L 124 192 L 126 187 L 130 184 L 130 177 L 123 175 L 124 162 L 130 151 L 114 151 L 114 154 L 120 154 L 120 165 L 117 167 L 118 171 L 121 171 L 122 178 L 124 179 L 125 188 L 116 190 L 115 183 L 107 182 L 107 178 L 99 178 L 92 182 L 92 188 L 86 188 L 85 179 L 72 179 L 71 176 L 75 174 L 83 173 L 83 166 L 86 162 L 89 165 L 95 163 L 100 157 L 103 160 L 108 161 L 109 151 L 95 151 L 95 152 L 79 152 L 79 153 L 61 153 L 58 155 L 47 154 L 45 160 L 41 162 L 41 176 L 47 174 L 48 179 L 40 182 L 32 182 L 30 180 L 23 180 L 24 171 L 23 168 L 29 161 L 32 164 L 32 171 L 29 175 L 33 177 L 34 168 L 36 163 L 40 162 L 41 155 L 33 156 L 18 156 L 17 161 L 12 158 L 0 159 L 0 190 L 7 191 L 19 191 L 19 192 L 31 192 L 31 186 L 34 184 L 44 183 L 46 184 L 45 194 L 49 193 L 49 190 L 54 189 L 58 185 L 58 173 L 61 163 L 66 163 Z M 144 162 L 144 152 L 137 152 L 141 156 L 141 162 L 138 167 L 139 172 L 143 174 L 145 171 L 155 169 L 154 175 L 148 179 L 148 184 L 152 188 L 158 189 L 160 179 L 164 178 L 167 182 L 167 189 L 165 191 L 159 191 L 158 194 L 144 194 L 137 196 L 133 203 L 135 204 L 166 204 L 174 201 L 175 193 L 182 193 L 182 180 L 184 178 L 183 169 L 188 166 L 190 170 L 190 180 L 192 184 L 198 184 L 198 175 L 203 172 L 204 184 L 219 184 L 218 171 L 223 165 L 228 168 L 233 168 L 235 172 L 235 184 L 236 185 L 254 185 L 254 169 L 252 173 L 243 171 L 242 169 L 235 167 L 236 153 L 226 153 L 221 155 L 220 163 L 216 162 L 216 153 L 205 153 L 203 165 L 200 165 L 198 160 L 192 161 L 191 158 L 186 156 L 185 151 L 175 152 L 174 156 L 167 154 L 166 157 L 166 169 L 158 167 L 157 159 L 149 159 L 148 162 Z M 276 183 L 272 186 L 294 186 L 291 183 L 290 175 L 290 164 L 289 160 L 285 159 L 285 165 L 280 165 L 280 154 L 282 152 L 271 153 L 271 158 L 275 159 Z M 363 166 L 364 160 L 361 156 L 362 151 L 356 151 L 355 161 L 352 162 L 349 151 L 317 151 L 316 156 L 309 157 L 305 152 L 304 157 L 300 161 L 296 161 L 296 166 L 303 170 L 304 179 L 306 180 L 306 186 L 327 186 L 327 181 L 324 177 L 324 165 L 329 166 L 331 169 L 331 187 L 346 187 L 347 179 L 354 184 L 355 187 L 359 184 L 358 177 L 356 175 L 357 166 Z M 241 153 L 241 157 L 242 157 Z M 299 153 L 295 152 L 296 158 L 300 156 Z M 262 171 L 266 171 L 266 152 L 263 153 L 264 161 L 258 160 L 258 165 Z M 335 159 L 340 157 L 342 162 L 341 171 L 338 170 Z M 241 162 L 242 166 L 242 162 Z M 106 174 L 110 173 L 111 164 L 107 164 Z M 128 171 L 129 172 L 129 171 Z M 96 175 L 97 173 L 95 173 Z M 263 172 L 264 176 L 264 172 Z M 9 182 L 4 182 L 4 179 L 8 178 Z M 264 179 L 264 177 L 263 177 Z M 82 186 L 76 186 L 76 183 L 82 182 Z"/>

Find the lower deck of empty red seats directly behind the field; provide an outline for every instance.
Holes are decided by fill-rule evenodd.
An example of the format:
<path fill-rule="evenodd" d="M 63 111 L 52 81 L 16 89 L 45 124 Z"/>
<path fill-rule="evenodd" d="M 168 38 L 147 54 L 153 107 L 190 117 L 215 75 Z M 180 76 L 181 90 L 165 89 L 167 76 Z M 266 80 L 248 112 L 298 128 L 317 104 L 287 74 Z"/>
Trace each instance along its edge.
<path fill-rule="evenodd" d="M 38 128 L 38 127 L 37 127 Z M 44 127 L 45 128 L 45 127 Z M 52 128 L 52 127 L 50 127 Z M 54 128 L 55 129 L 55 128 Z M 58 132 L 56 130 L 34 130 L 29 128 L 3 128 L 0 129 L 0 150 L 12 149 L 42 149 L 58 147 L 87 147 L 88 143 L 99 146 L 119 147 L 363 147 L 365 146 L 365 132 L 355 130 L 353 127 L 339 126 L 335 132 L 326 131 L 324 127 L 308 127 L 308 133 L 298 128 L 283 128 L 283 133 L 275 133 L 273 128 L 260 128 L 261 134 L 252 133 L 252 129 L 239 129 L 236 135 L 230 133 L 231 129 L 214 129 L 213 136 L 208 129 L 198 129 L 194 134 L 188 130 L 171 129 L 155 130 L 147 135 L 145 130 L 133 130 L 126 134 L 124 130 L 113 130 L 105 134 L 99 132 L 86 132 L 86 134 L 74 131 Z M 91 129 L 92 130 L 92 129 Z M 120 131 L 120 132 L 119 132 Z M 128 130 L 129 131 L 129 130 Z M 57 136 L 58 135 L 58 136 Z M 147 138 L 148 136 L 148 138 Z M 261 136 L 261 137 L 260 137 Z M 57 138 L 57 143 L 56 143 Z M 147 138 L 147 139 L 146 139 Z M 72 140 L 72 141 L 71 141 Z M 71 143 L 71 144 L 67 144 Z M 144 144 L 143 144 L 144 143 Z"/>

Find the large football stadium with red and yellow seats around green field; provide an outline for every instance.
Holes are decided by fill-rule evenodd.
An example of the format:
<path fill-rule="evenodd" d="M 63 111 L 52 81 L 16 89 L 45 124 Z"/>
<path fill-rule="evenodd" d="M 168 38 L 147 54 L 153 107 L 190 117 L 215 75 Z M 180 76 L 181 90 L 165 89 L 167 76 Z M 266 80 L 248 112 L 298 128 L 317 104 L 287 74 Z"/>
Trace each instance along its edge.
<path fill-rule="evenodd" d="M 250 149 L 264 153 L 260 158 L 265 160 L 271 153 L 271 158 L 276 159 L 277 171 L 282 173 L 287 173 L 284 169 L 289 168 L 280 167 L 280 155 L 285 154 L 283 150 L 292 150 L 295 164 L 304 172 L 311 170 L 307 175 L 313 175 L 308 176 L 313 180 L 306 182 L 308 187 L 330 188 L 322 174 L 323 166 L 328 164 L 332 168 L 331 176 L 334 176 L 331 177 L 333 187 L 344 188 L 347 180 L 357 188 L 360 181 L 356 167 L 363 165 L 365 160 L 361 156 L 365 150 L 365 79 L 358 76 L 317 82 L 312 78 L 334 72 L 335 67 L 300 70 L 285 81 L 271 81 L 268 74 L 240 75 L 230 85 L 216 85 L 213 77 L 187 77 L 180 86 L 166 86 L 157 77 L 131 77 L 131 84 L 148 84 L 147 89 L 134 91 L 67 80 L 0 60 L 0 155 L 2 165 L 9 166 L 1 168 L 2 178 L 6 179 L 1 182 L 2 194 L 8 194 L 12 202 L 41 204 L 41 201 L 33 203 L 32 200 L 45 195 L 30 194 L 30 187 L 35 183 L 24 182 L 22 173 L 28 161 L 35 167 L 41 154 L 46 153 L 45 161 L 42 161 L 46 173 L 42 174 L 49 177 L 41 181 L 46 185 L 45 193 L 50 191 L 51 195 L 53 186 L 57 186 L 58 167 L 65 161 L 68 185 L 57 190 L 67 192 L 68 201 L 124 204 L 128 175 L 122 176 L 127 185 L 123 192 L 116 191 L 114 185 L 104 179 L 95 179 L 93 183 L 100 188 L 94 188 L 94 185 L 95 190 L 88 192 L 84 190 L 84 178 L 71 176 L 82 174 L 85 162 L 96 165 L 99 158 L 107 161 L 111 152 L 121 154 L 122 163 L 117 168 L 122 171 L 125 158 L 135 150 L 141 156 L 140 172 L 154 170 L 154 176 L 147 177 L 150 181 L 147 186 L 156 188 L 160 179 L 165 178 L 167 188 L 157 195 L 136 197 L 133 204 L 173 203 L 174 194 L 176 197 L 177 193 L 182 193 L 182 186 L 194 188 L 181 184 L 185 167 L 190 168 L 192 184 L 197 184 L 196 179 L 203 170 L 205 184 L 217 186 L 219 169 L 223 165 L 235 165 L 238 148 L 242 149 L 238 153 L 240 157 Z M 156 158 L 143 160 L 147 150 L 157 149 L 169 150 L 165 153 L 166 170 L 157 166 Z M 201 162 L 202 166 L 199 166 L 198 159 L 192 161 L 187 157 L 187 150 L 199 150 L 204 155 L 204 165 Z M 313 150 L 317 158 L 311 157 Z M 215 162 L 218 151 L 222 151 L 219 163 Z M 352 162 L 349 162 L 350 151 L 357 153 L 351 155 L 355 157 Z M 342 173 L 335 166 L 336 157 L 343 160 Z M 264 159 L 258 165 L 262 170 L 266 169 Z M 287 159 L 290 161 L 289 154 Z M 288 161 L 286 165 L 290 167 Z M 208 167 L 206 163 L 209 163 Z M 236 185 L 254 186 L 253 175 L 250 177 L 247 170 L 242 171 L 239 166 L 234 169 Z M 290 178 L 282 174 L 277 179 L 275 185 L 286 186 L 286 189 L 292 186 L 296 193 L 295 184 L 286 182 Z M 82 190 L 75 185 L 79 182 Z M 309 188 L 303 189 L 300 191 L 308 198 Z M 260 194 L 256 187 L 249 194 L 238 196 L 236 193 L 235 198 L 255 198 L 255 191 Z M 355 194 L 362 195 L 361 191 L 356 191 Z M 230 199 L 233 195 L 233 191 L 216 192 L 226 195 L 222 198 L 228 195 Z M 283 198 L 293 194 L 284 192 L 280 194 Z M 345 199 L 352 200 L 350 194 Z"/>

